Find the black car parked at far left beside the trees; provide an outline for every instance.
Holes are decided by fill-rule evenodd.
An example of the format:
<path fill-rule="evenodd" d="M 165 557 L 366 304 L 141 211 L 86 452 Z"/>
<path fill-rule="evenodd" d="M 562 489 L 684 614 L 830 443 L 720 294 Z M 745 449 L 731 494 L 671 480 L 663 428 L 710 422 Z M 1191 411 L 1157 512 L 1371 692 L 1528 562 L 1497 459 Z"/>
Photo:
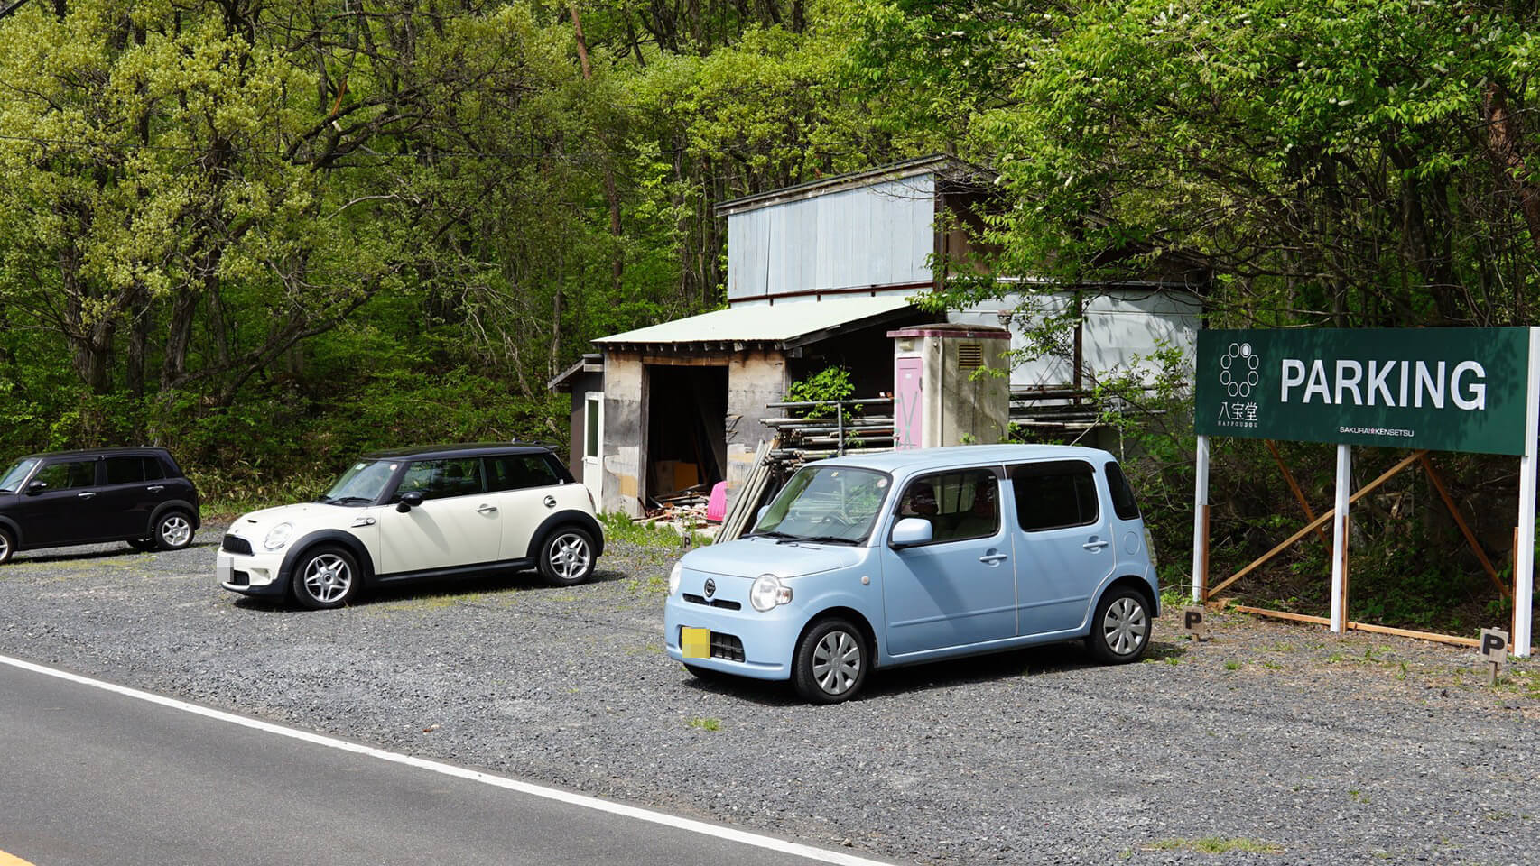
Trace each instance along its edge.
<path fill-rule="evenodd" d="M 0 474 L 0 563 L 102 541 L 179 551 L 199 525 L 197 489 L 163 448 L 32 454 Z"/>

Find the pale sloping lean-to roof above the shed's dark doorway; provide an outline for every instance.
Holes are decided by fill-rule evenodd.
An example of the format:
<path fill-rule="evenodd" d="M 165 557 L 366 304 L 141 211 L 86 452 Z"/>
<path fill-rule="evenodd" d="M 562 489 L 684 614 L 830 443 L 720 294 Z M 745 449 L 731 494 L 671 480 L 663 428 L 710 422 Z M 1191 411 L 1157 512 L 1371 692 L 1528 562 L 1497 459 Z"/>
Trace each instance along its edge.
<path fill-rule="evenodd" d="M 594 343 L 601 346 L 772 343 L 785 349 L 815 343 L 839 331 L 876 325 L 910 311 L 913 306 L 902 297 L 824 297 L 822 300 L 719 309 L 601 337 Z"/>

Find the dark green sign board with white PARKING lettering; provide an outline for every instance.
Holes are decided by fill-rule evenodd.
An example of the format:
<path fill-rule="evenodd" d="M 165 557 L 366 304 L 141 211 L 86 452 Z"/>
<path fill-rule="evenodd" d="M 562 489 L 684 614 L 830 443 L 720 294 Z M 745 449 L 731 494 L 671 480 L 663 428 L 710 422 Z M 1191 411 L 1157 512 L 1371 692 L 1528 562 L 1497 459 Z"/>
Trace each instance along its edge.
<path fill-rule="evenodd" d="M 1525 454 L 1528 328 L 1200 331 L 1201 435 Z"/>

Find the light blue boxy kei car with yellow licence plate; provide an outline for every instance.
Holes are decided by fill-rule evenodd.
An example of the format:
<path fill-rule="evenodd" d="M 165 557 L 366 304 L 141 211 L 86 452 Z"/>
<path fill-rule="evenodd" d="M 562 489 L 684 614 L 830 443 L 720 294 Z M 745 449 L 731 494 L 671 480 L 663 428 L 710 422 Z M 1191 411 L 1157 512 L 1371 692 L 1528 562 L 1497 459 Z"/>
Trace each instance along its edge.
<path fill-rule="evenodd" d="M 699 677 L 792 680 L 816 703 L 867 671 L 1084 640 L 1149 649 L 1160 615 L 1138 505 L 1106 451 L 992 445 L 799 469 L 745 537 L 668 575 L 668 655 Z"/>

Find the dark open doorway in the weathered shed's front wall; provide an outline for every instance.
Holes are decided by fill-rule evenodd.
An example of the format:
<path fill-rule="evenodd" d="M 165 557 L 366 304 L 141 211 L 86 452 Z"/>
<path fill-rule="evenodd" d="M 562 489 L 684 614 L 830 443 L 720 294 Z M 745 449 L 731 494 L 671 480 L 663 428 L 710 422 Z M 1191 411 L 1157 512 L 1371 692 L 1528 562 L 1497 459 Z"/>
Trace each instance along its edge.
<path fill-rule="evenodd" d="M 727 368 L 647 366 L 647 498 L 727 478 Z"/>

